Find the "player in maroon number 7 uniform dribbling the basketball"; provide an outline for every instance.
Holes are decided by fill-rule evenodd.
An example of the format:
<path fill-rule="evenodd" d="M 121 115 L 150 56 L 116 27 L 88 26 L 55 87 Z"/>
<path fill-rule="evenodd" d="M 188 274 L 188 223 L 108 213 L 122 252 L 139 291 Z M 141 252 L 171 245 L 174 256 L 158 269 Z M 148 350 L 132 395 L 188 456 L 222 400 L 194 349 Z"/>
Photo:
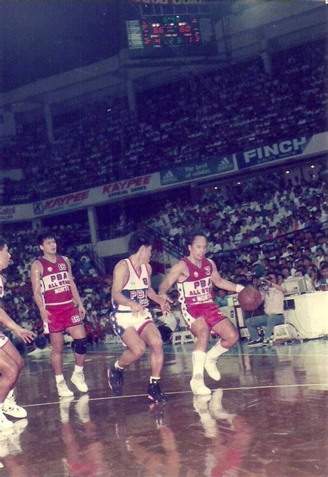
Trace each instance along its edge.
<path fill-rule="evenodd" d="M 218 357 L 230 350 L 238 341 L 235 326 L 220 312 L 213 301 L 212 283 L 218 288 L 239 293 L 244 288 L 222 278 L 213 260 L 206 258 L 207 240 L 201 232 L 190 235 L 187 241 L 189 255 L 174 265 L 159 287 L 158 294 L 166 296 L 167 290 L 176 283 L 179 302 L 185 323 L 197 338 L 192 353 L 192 380 L 190 386 L 194 395 L 210 394 L 204 384 L 204 368 L 208 375 L 219 381 Z M 221 336 L 219 342 L 208 352 L 210 332 Z"/>

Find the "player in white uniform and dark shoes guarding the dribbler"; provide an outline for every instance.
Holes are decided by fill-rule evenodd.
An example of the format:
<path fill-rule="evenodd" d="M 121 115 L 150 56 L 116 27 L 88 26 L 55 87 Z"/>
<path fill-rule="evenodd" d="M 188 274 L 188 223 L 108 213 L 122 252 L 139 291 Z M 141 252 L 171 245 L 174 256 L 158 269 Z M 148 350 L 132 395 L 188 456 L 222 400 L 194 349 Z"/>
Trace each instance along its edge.
<path fill-rule="evenodd" d="M 148 397 L 155 402 L 165 402 L 167 396 L 159 384 L 164 359 L 163 341 L 147 307 L 150 298 L 161 306 L 164 314 L 169 309 L 167 302 L 172 300 L 159 297 L 152 289 L 152 268 L 149 265 L 152 240 L 143 233 L 134 233 L 129 240 L 129 253 L 129 258 L 120 260 L 113 271 L 111 325 L 127 350 L 108 370 L 109 387 L 114 394 L 122 395 L 123 370 L 140 359 L 148 345 L 151 368 Z"/>

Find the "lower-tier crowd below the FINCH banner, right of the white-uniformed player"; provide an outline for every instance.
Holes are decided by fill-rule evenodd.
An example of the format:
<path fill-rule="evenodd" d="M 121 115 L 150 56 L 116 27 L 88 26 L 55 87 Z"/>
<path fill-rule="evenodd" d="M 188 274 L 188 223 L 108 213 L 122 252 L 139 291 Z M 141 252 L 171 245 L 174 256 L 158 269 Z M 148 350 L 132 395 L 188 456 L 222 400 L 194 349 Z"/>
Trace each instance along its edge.
<path fill-rule="evenodd" d="M 320 177 L 284 184 L 279 173 L 248 178 L 225 199 L 208 190 L 197 204 L 177 197 L 147 226 L 169 237 L 183 253 L 194 228 L 208 237 L 208 255 L 221 276 L 256 285 L 269 271 L 285 278 L 306 276 L 309 290 L 319 289 L 320 267 L 327 257 L 327 190 Z"/>

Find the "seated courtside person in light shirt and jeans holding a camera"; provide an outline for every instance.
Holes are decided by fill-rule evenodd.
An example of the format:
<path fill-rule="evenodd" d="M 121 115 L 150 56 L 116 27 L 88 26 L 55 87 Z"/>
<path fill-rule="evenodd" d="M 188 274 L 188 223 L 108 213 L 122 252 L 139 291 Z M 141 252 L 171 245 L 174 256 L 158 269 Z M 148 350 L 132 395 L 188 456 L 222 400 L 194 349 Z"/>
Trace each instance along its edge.
<path fill-rule="evenodd" d="M 275 325 L 284 324 L 284 294 L 286 289 L 282 287 L 282 276 L 275 273 L 269 273 L 268 279 L 262 279 L 268 285 L 266 291 L 262 291 L 264 298 L 264 315 L 253 316 L 246 320 L 246 326 L 250 334 L 248 346 L 255 348 L 257 346 L 267 346 L 273 333 Z M 264 338 L 259 336 L 257 327 L 265 327 Z"/>

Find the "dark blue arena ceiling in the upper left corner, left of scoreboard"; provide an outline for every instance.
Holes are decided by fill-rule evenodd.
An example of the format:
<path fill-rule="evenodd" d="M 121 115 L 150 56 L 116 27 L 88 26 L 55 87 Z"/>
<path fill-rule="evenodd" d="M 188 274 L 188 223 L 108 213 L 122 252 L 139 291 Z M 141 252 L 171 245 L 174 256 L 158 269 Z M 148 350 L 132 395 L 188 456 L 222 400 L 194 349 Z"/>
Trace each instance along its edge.
<path fill-rule="evenodd" d="M 115 55 L 126 43 L 127 8 L 138 1 L 1 0 L 0 91 Z"/>

